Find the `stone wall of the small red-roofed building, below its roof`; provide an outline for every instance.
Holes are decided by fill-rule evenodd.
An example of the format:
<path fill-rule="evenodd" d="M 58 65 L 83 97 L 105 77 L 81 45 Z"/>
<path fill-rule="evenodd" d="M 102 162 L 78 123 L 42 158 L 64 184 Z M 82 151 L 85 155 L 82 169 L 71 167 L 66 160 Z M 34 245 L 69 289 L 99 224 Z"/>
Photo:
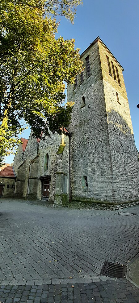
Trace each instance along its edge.
<path fill-rule="evenodd" d="M 2 197 L 12 197 L 15 189 L 15 179 L 13 178 L 0 178 L 0 184 L 4 185 Z M 7 188 L 8 187 L 8 188 Z"/>

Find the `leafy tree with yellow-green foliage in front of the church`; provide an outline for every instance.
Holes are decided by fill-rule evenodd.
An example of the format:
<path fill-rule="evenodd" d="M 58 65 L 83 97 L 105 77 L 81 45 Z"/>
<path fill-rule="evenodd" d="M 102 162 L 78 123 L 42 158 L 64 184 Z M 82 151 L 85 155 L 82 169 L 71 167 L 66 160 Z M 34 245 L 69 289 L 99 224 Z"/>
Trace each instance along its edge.
<path fill-rule="evenodd" d="M 74 40 L 55 39 L 58 25 L 49 15 L 61 13 L 73 21 L 79 3 L 0 3 L 0 164 L 18 145 L 25 122 L 42 139 L 70 123 L 73 104 L 62 106 L 64 81 L 74 83 L 82 62 Z"/>

